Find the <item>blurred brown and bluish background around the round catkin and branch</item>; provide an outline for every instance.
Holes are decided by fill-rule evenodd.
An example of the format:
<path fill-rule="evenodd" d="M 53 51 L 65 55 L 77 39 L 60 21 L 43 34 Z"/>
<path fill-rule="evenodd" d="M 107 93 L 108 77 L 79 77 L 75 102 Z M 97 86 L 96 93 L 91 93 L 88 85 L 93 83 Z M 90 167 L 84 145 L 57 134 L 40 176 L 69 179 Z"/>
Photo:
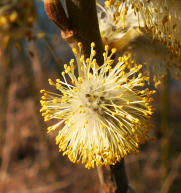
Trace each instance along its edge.
<path fill-rule="evenodd" d="M 56 134 L 46 134 L 39 91 L 52 89 L 48 78 L 59 77 L 73 55 L 43 3 L 34 6 L 31 41 L 1 36 L 0 193 L 98 192 L 97 170 L 72 164 L 58 153 Z M 138 193 L 181 192 L 181 80 L 168 74 L 164 82 L 154 96 L 155 140 L 125 159 L 129 183 Z"/>

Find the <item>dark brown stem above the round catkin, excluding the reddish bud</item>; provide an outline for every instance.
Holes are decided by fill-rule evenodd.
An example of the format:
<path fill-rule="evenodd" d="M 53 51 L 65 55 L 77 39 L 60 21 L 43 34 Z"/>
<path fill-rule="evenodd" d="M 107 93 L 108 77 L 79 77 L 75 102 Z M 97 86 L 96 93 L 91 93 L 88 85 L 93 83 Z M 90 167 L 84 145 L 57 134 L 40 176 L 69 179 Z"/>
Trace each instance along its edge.
<path fill-rule="evenodd" d="M 84 54 L 89 57 L 91 42 L 96 43 L 97 60 L 103 61 L 103 44 L 100 36 L 95 0 L 66 0 L 74 37 L 83 43 Z"/>

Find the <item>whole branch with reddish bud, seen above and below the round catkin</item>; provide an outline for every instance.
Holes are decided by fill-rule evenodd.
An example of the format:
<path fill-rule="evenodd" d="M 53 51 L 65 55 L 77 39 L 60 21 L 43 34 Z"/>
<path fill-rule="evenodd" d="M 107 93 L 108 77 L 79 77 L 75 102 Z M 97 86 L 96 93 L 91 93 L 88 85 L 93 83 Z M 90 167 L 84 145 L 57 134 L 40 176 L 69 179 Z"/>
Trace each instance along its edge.
<path fill-rule="evenodd" d="M 71 48 L 76 48 L 77 43 L 82 42 L 82 51 L 85 57 L 89 57 L 90 44 L 95 42 L 96 60 L 99 65 L 102 65 L 104 46 L 99 31 L 96 1 L 65 0 L 65 2 L 68 16 L 62 9 L 59 0 L 44 0 L 46 12 L 48 10 L 47 15 L 60 28 L 62 38 L 67 41 Z M 49 8 L 47 9 L 48 6 Z M 55 8 L 55 6 L 57 7 Z M 58 9 L 58 7 L 61 8 Z M 53 11 L 62 13 L 54 13 Z M 127 192 L 128 184 L 123 161 L 109 168 L 99 168 L 98 174 L 102 185 L 101 192 Z"/>

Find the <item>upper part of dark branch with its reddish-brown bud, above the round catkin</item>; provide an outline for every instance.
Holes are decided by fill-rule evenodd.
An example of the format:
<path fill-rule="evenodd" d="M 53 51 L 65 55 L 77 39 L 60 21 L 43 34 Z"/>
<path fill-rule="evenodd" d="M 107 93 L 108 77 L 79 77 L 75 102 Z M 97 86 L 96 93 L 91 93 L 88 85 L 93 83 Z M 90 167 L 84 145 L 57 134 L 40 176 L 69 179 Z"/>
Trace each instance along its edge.
<path fill-rule="evenodd" d="M 71 48 L 82 42 L 83 53 L 90 55 L 90 44 L 96 43 L 96 59 L 103 62 L 103 44 L 100 36 L 95 0 L 66 0 L 68 16 L 59 0 L 44 0 L 48 17 L 61 30 L 62 38 Z"/>

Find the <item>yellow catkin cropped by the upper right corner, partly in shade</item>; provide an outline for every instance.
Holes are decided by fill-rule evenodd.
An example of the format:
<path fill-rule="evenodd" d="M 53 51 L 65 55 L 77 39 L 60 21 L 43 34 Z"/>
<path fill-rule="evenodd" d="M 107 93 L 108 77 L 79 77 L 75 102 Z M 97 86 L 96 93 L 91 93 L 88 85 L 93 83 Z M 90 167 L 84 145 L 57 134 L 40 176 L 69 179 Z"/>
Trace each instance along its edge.
<path fill-rule="evenodd" d="M 170 71 L 181 74 L 181 20 L 179 1 L 108 0 L 98 4 L 101 36 L 105 44 L 129 51 L 152 74 L 157 87 Z"/>

